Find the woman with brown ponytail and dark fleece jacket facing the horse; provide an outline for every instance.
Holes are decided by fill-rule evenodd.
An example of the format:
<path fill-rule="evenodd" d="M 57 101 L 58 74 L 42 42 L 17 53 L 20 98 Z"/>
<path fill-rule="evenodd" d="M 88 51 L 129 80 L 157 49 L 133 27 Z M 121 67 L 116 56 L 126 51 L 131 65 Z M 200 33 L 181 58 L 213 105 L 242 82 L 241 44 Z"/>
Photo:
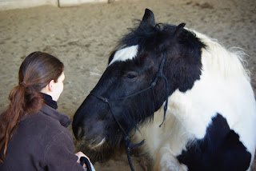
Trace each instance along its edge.
<path fill-rule="evenodd" d="M 18 73 L 19 84 L 11 90 L 10 104 L 0 116 L 0 170 L 84 169 L 82 152 L 74 154 L 70 117 L 59 113 L 57 101 L 63 90 L 64 66 L 54 56 L 34 52 Z"/>

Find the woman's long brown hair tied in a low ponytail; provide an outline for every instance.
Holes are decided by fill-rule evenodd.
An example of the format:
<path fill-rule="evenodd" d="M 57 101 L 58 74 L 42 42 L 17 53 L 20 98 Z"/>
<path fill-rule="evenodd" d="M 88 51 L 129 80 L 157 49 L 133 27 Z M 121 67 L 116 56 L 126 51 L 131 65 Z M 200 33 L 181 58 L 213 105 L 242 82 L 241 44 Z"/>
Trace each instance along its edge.
<path fill-rule="evenodd" d="M 64 70 L 62 62 L 42 52 L 28 55 L 18 72 L 18 85 L 9 94 L 10 104 L 0 115 L 0 162 L 6 157 L 8 142 L 23 117 L 36 113 L 44 100 L 40 91 L 51 80 L 58 81 Z"/>

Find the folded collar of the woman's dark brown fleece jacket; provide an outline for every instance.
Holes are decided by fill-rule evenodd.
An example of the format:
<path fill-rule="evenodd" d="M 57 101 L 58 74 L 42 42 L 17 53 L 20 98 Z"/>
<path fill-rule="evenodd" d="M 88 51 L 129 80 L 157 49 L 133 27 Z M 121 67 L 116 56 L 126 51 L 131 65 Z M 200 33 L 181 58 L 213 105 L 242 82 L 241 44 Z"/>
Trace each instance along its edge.
<path fill-rule="evenodd" d="M 42 109 L 40 109 L 40 110 L 42 111 L 42 113 L 45 113 L 47 116 L 57 119 L 61 123 L 62 126 L 67 127 L 71 123 L 69 116 L 58 112 L 56 109 L 51 108 L 49 105 L 43 105 Z"/>

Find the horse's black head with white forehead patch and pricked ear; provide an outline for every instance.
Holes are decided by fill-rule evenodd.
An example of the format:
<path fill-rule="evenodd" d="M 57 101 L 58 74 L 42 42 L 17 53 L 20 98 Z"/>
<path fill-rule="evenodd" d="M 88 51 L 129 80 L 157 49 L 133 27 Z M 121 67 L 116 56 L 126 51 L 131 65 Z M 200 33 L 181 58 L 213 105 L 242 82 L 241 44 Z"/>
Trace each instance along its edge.
<path fill-rule="evenodd" d="M 200 78 L 204 45 L 183 26 L 155 24 L 154 14 L 145 10 L 138 27 L 121 39 L 102 78 L 75 113 L 75 137 L 90 148 L 118 145 L 125 133 L 153 117 L 166 101 L 167 89 L 168 97 L 176 89 L 191 89 Z M 158 78 L 160 70 L 168 84 Z M 158 81 L 152 85 L 155 78 Z"/>

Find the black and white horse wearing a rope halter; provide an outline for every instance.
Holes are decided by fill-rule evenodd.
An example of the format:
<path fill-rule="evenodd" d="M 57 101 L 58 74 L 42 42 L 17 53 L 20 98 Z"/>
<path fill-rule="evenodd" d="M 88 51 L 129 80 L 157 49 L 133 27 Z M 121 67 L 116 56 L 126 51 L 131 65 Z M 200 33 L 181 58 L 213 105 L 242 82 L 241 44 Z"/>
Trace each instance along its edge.
<path fill-rule="evenodd" d="M 146 9 L 74 114 L 74 136 L 95 152 L 141 145 L 152 170 L 250 170 L 256 105 L 242 57 Z"/>

